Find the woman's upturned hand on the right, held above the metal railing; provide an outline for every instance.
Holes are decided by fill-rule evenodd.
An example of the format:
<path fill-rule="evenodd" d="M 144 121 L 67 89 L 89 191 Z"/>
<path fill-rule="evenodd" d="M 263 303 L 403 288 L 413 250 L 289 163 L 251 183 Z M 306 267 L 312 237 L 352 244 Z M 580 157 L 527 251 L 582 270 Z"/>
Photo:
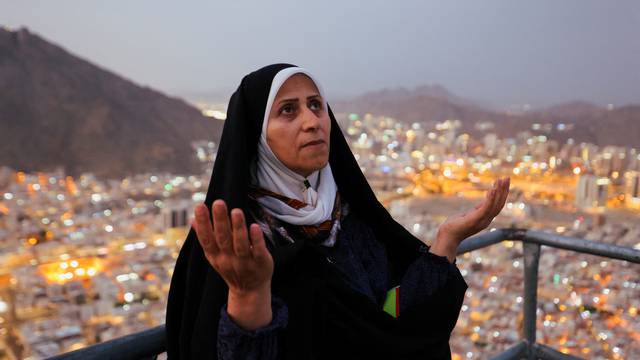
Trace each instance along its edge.
<path fill-rule="evenodd" d="M 447 218 L 438 228 L 433 247 L 444 249 L 440 250 L 441 253 L 453 252 L 452 256 L 455 257 L 455 251 L 462 240 L 487 228 L 500 213 L 509 195 L 510 182 L 510 177 L 496 180 L 483 202 L 471 210 Z"/>

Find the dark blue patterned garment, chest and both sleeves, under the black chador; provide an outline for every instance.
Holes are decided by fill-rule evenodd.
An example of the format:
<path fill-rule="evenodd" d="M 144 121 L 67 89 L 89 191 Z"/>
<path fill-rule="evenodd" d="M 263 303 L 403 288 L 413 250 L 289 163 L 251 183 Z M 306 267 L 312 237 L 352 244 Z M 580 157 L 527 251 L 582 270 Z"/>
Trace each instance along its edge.
<path fill-rule="evenodd" d="M 427 251 L 410 264 L 398 283 L 388 271 L 386 250 L 375 238 L 373 230 L 354 214 L 348 214 L 341 224 L 334 247 L 329 249 L 329 261 L 342 270 L 344 280 L 372 302 L 382 306 L 387 290 L 400 285 L 400 313 L 420 299 L 444 286 L 458 271 L 456 261 Z M 260 329 L 246 331 L 238 327 L 221 309 L 218 323 L 219 359 L 276 359 L 278 330 L 287 326 L 287 305 L 273 295 L 273 320 Z"/>

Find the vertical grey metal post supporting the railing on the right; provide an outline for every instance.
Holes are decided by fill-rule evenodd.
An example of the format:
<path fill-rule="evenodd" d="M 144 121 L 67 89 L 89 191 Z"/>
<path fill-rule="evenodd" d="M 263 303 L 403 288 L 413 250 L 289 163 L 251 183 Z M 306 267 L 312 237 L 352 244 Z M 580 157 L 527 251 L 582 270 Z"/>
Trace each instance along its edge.
<path fill-rule="evenodd" d="M 522 243 L 524 249 L 524 339 L 529 347 L 529 359 L 535 359 L 536 310 L 538 308 L 538 263 L 540 245 Z"/>

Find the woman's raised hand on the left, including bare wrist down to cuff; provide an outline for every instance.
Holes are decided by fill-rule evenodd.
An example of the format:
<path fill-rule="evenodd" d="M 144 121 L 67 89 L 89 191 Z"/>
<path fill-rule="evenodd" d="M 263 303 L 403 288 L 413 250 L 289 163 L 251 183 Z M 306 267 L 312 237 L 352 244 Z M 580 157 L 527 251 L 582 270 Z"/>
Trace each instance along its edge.
<path fill-rule="evenodd" d="M 249 231 L 241 209 L 231 211 L 223 200 L 209 209 L 199 204 L 192 222 L 204 255 L 229 287 L 227 311 L 239 326 L 252 330 L 271 322 L 273 258 L 258 224 Z M 249 233 L 249 234 L 247 234 Z"/>

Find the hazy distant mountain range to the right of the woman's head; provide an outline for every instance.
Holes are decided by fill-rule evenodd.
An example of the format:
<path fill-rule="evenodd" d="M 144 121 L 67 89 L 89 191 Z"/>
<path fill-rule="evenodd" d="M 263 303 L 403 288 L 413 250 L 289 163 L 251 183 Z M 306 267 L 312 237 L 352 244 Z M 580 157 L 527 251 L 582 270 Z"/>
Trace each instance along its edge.
<path fill-rule="evenodd" d="M 337 112 L 371 113 L 391 116 L 403 122 L 419 122 L 427 127 L 444 120 L 460 120 L 461 131 L 481 138 L 484 132 L 477 129 L 478 122 L 491 121 L 495 127 L 490 131 L 501 137 L 515 137 L 530 130 L 534 123 L 550 123 L 550 138 L 564 142 L 568 138 L 576 142 L 591 142 L 597 145 L 640 145 L 640 105 L 620 108 L 602 108 L 587 102 L 575 101 L 549 108 L 513 114 L 489 110 L 477 103 L 451 94 L 446 89 L 420 87 L 414 90 L 391 89 L 365 93 L 351 100 L 331 104 Z M 558 124 L 572 123 L 570 131 L 558 131 Z"/>

